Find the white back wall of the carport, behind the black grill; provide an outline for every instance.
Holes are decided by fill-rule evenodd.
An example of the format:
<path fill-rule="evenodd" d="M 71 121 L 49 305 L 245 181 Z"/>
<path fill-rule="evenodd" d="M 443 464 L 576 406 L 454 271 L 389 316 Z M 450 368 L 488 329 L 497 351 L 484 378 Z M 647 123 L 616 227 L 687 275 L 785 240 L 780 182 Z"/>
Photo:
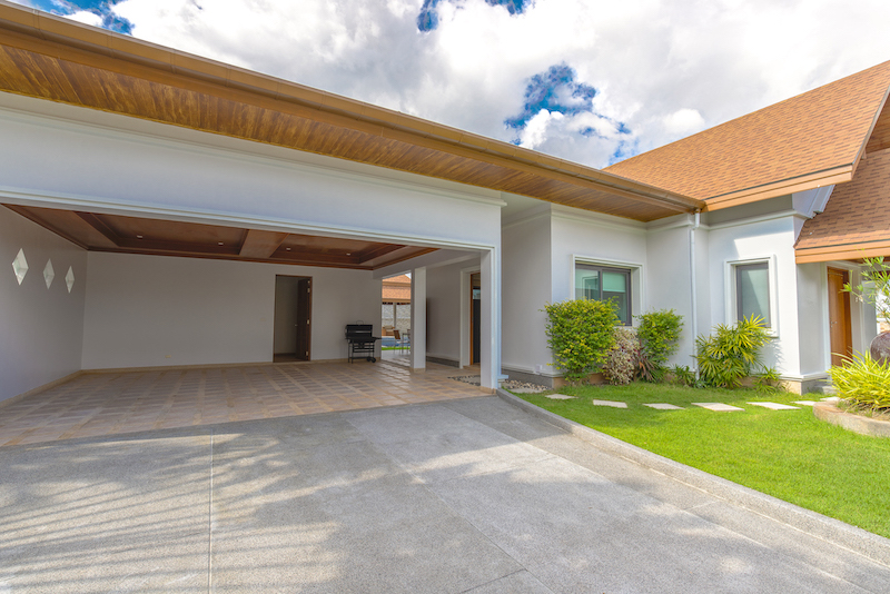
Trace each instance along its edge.
<path fill-rule="evenodd" d="M 369 271 L 90 253 L 82 367 L 270 362 L 275 275 L 313 277 L 313 360 L 346 357 L 346 324 L 379 336 Z"/>

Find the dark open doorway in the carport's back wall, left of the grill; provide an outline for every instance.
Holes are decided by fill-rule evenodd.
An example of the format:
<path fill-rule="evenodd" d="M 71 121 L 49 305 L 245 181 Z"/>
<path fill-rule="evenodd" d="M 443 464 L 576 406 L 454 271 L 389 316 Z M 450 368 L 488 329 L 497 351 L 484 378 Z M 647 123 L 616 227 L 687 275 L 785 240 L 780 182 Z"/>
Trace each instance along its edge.
<path fill-rule="evenodd" d="M 312 360 L 313 279 L 275 276 L 273 360 Z"/>

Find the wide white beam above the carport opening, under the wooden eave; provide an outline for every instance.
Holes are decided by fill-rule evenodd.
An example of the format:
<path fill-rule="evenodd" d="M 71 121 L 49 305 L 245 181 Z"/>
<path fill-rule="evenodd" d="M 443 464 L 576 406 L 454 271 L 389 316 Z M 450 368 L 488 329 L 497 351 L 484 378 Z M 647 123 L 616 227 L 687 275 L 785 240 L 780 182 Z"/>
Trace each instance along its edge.
<path fill-rule="evenodd" d="M 500 236 L 496 191 L 50 101 L 0 93 L 0 138 L 14 204 L 417 245 Z"/>

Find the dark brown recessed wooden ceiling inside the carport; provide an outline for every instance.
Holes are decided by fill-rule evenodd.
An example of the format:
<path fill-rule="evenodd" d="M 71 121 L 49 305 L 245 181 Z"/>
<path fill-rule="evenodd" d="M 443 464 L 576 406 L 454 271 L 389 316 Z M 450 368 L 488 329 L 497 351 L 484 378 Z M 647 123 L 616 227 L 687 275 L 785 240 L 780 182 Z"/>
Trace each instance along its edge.
<path fill-rule="evenodd" d="M 91 251 L 373 270 L 435 248 L 119 215 L 4 205 Z"/>

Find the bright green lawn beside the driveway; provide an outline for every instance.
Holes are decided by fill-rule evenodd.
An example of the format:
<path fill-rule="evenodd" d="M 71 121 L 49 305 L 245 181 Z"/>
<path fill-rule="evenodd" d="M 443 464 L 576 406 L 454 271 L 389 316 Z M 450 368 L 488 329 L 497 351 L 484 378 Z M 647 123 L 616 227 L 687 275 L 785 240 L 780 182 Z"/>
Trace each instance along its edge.
<path fill-rule="evenodd" d="M 682 464 L 890 537 L 890 439 L 818 420 L 812 409 L 770 410 L 748 402 L 792 404 L 792 394 L 693 389 L 634 383 L 563 388 L 573 400 L 520 397 L 560 416 Z M 623 400 L 627 409 L 593 406 Z M 692 403 L 725 403 L 744 412 L 714 413 Z M 668 403 L 683 410 L 656 410 Z"/>

